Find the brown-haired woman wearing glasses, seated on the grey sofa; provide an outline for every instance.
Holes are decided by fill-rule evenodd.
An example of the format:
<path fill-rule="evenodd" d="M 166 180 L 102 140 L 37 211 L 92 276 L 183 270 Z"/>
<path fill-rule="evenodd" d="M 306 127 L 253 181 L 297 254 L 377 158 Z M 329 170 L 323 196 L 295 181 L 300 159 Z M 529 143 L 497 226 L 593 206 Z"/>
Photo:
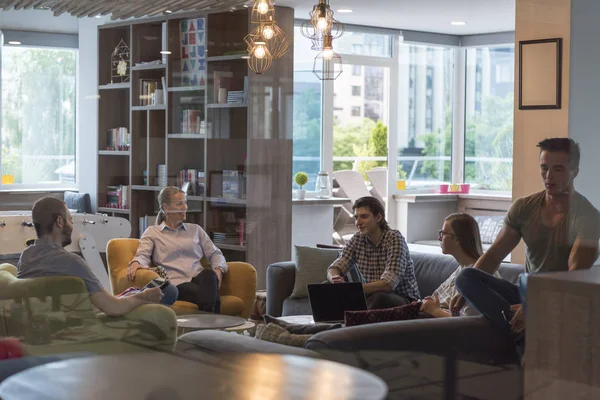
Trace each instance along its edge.
<path fill-rule="evenodd" d="M 444 225 L 439 231 L 438 240 L 442 253 L 449 254 L 456 262 L 458 268 L 444 283 L 438 287 L 431 296 L 423 299 L 421 312 L 433 317 L 451 317 L 450 301 L 458 293 L 454 281 L 458 273 L 464 268 L 472 267 L 483 254 L 479 225 L 469 214 L 450 214 L 444 220 Z M 496 272 L 495 276 L 500 277 Z M 479 312 L 466 304 L 460 315 L 479 315 Z"/>

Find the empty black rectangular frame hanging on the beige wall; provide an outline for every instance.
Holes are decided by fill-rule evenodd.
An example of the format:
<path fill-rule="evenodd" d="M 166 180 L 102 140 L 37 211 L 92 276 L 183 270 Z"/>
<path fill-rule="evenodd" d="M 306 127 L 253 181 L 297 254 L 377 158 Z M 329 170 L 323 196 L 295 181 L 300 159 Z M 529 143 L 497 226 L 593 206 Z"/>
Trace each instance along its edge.
<path fill-rule="evenodd" d="M 562 39 L 519 42 L 519 110 L 561 108 Z"/>

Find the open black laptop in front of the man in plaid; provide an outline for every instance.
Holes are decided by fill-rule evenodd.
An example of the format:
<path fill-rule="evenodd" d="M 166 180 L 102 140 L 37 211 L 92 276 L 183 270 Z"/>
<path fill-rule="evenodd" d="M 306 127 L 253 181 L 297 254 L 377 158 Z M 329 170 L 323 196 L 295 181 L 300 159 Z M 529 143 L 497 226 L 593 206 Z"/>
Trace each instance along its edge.
<path fill-rule="evenodd" d="M 306 285 L 315 322 L 344 322 L 344 311 L 367 309 L 360 282 Z"/>

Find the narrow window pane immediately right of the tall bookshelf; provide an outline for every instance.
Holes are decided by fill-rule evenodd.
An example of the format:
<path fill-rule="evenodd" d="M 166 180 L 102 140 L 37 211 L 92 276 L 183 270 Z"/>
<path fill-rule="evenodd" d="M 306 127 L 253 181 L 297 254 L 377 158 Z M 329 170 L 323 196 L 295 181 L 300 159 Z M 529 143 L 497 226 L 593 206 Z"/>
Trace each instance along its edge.
<path fill-rule="evenodd" d="M 292 172 L 306 172 L 314 188 L 321 169 L 321 81 L 313 74 L 311 42 L 294 29 L 294 128 Z"/>

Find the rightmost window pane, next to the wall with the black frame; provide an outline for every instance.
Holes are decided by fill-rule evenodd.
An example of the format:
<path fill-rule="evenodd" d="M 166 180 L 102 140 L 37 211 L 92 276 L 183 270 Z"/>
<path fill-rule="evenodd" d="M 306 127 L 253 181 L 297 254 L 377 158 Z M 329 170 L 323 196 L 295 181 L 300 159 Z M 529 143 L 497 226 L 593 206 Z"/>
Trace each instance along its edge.
<path fill-rule="evenodd" d="M 514 45 L 467 50 L 465 179 L 512 190 Z"/>

